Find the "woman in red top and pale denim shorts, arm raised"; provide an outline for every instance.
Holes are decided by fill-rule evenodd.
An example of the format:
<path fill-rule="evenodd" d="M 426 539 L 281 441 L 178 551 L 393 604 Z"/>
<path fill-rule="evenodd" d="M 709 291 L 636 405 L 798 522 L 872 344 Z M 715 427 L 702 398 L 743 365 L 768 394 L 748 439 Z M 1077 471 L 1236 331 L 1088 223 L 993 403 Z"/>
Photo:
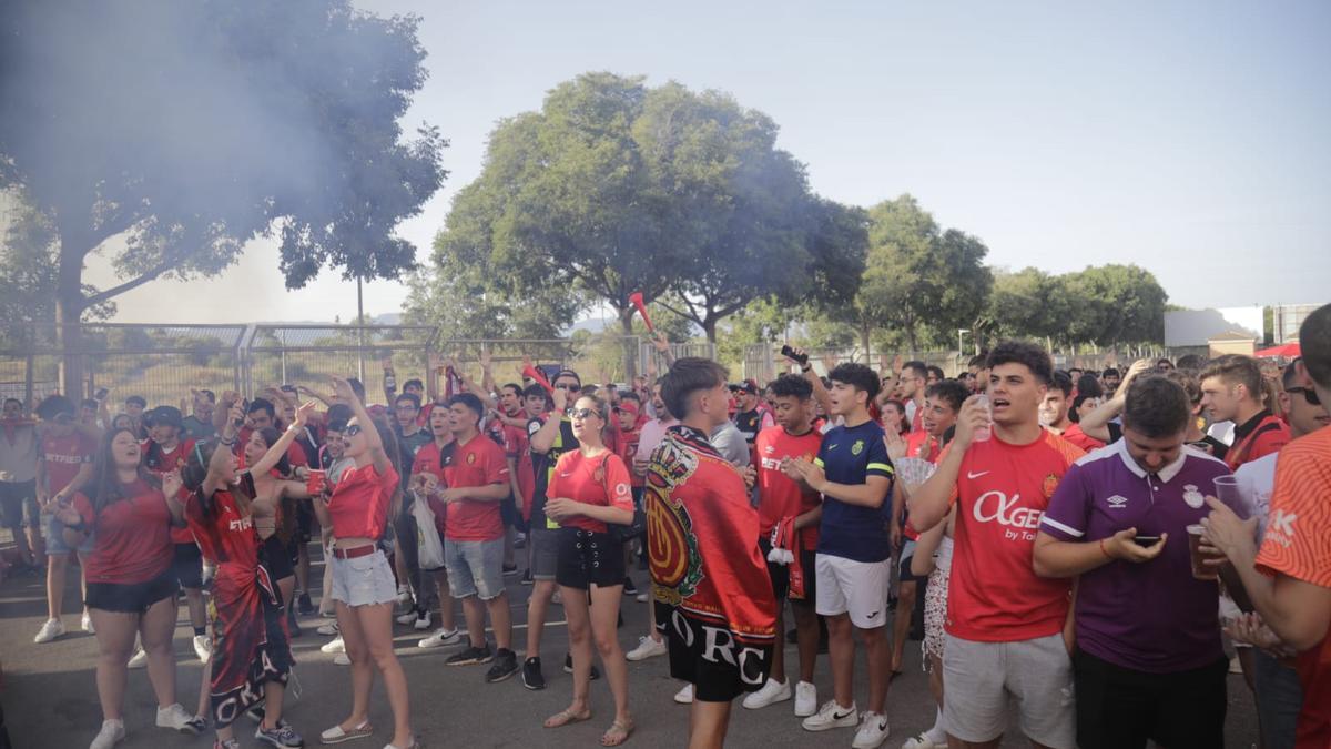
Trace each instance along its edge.
<path fill-rule="evenodd" d="M 393 568 L 378 541 L 389 521 L 390 505 L 399 493 L 398 454 L 393 429 L 370 418 L 365 404 L 346 380 L 334 378 L 337 400 L 355 414 L 342 432 L 343 456 L 355 461 L 342 473 L 333 496 L 315 498 L 319 524 L 333 529 L 333 601 L 337 622 L 351 660 L 351 714 L 321 736 L 323 744 L 338 744 L 369 736 L 370 686 L 379 669 L 393 708 L 393 744 L 386 749 L 417 746 L 411 734 L 407 705 L 407 677 L 393 653 L 393 605 L 398 600 Z M 394 456 L 394 457 L 390 457 Z"/>

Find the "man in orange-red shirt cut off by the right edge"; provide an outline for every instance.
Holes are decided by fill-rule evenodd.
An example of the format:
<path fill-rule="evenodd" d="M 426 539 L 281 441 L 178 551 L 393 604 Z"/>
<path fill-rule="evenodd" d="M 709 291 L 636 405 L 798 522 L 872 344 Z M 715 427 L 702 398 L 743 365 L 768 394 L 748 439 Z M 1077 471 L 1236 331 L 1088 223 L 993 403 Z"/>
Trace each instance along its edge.
<path fill-rule="evenodd" d="M 1331 402 L 1331 305 L 1299 328 L 1299 386 Z M 1276 637 L 1296 650 L 1303 709 L 1298 749 L 1331 746 L 1331 428 L 1280 450 L 1271 514 L 1258 549 L 1258 518 L 1238 514 L 1214 497 L 1206 537 L 1234 564 L 1243 588 Z"/>

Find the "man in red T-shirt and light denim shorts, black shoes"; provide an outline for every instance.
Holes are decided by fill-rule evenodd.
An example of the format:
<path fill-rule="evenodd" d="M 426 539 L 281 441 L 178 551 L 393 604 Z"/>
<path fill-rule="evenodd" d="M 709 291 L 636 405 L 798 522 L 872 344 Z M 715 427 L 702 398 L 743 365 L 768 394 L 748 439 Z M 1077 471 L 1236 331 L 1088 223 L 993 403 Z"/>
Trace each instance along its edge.
<path fill-rule="evenodd" d="M 508 464 L 503 449 L 480 433 L 484 404 L 471 393 L 449 398 L 453 430 L 453 462 L 445 469 L 447 489 L 439 500 L 447 505 L 443 556 L 449 588 L 462 600 L 471 645 L 453 654 L 447 665 L 494 661 L 486 681 L 503 681 L 518 673 L 512 652 L 512 617 L 503 586 L 503 520 L 499 502 L 508 496 Z M 496 652 L 486 642 L 486 610 L 495 632 Z"/>

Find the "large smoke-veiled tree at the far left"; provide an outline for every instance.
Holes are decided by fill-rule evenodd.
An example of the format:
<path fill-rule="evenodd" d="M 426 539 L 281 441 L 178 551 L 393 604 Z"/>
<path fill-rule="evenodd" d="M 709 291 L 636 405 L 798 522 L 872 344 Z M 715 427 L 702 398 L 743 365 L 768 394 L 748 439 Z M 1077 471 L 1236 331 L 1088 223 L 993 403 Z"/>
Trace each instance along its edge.
<path fill-rule="evenodd" d="M 291 288 L 410 268 L 393 229 L 446 175 L 439 132 L 398 124 L 426 76 L 417 25 L 349 0 L 0 5 L 0 188 L 52 223 L 56 321 L 261 236 Z M 121 283 L 89 292 L 96 252 Z M 65 380 L 79 392 L 72 359 Z"/>

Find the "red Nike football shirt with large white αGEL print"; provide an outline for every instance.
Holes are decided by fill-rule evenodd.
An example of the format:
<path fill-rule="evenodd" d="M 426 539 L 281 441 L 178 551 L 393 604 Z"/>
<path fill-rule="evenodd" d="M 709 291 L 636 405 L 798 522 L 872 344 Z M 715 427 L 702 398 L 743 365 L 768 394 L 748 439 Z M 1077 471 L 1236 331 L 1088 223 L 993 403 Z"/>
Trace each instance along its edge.
<path fill-rule="evenodd" d="M 1071 581 L 1036 576 L 1036 533 L 1067 466 L 1083 454 L 1047 430 L 1029 445 L 1010 445 L 994 434 L 966 450 L 953 488 L 957 533 L 946 620 L 952 636 L 1014 642 L 1062 630 Z"/>

